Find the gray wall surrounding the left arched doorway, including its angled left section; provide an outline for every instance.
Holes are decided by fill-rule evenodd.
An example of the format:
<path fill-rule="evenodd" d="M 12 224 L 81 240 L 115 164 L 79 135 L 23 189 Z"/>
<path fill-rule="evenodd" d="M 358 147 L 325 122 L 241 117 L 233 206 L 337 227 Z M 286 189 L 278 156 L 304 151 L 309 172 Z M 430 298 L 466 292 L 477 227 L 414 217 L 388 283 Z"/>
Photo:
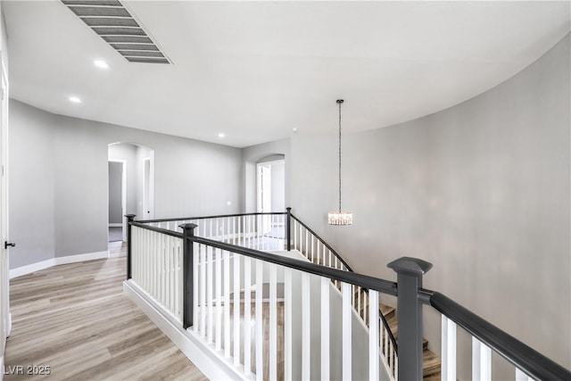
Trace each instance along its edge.
<path fill-rule="evenodd" d="M 111 143 L 153 148 L 157 218 L 240 211 L 240 149 L 54 115 L 15 100 L 10 124 L 10 220 L 19 243 L 12 269 L 107 250 Z"/>

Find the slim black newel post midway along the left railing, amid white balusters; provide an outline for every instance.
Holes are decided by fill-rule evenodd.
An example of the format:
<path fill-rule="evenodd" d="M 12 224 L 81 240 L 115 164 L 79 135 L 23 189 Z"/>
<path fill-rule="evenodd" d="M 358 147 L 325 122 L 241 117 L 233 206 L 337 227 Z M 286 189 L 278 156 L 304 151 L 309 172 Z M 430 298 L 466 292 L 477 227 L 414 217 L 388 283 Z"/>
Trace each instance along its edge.
<path fill-rule="evenodd" d="M 194 228 L 196 224 L 182 224 L 178 228 L 182 228 L 182 326 L 193 326 L 193 306 L 194 306 L 194 290 L 193 290 L 193 263 L 194 263 L 194 242 L 190 239 L 194 237 Z"/>

